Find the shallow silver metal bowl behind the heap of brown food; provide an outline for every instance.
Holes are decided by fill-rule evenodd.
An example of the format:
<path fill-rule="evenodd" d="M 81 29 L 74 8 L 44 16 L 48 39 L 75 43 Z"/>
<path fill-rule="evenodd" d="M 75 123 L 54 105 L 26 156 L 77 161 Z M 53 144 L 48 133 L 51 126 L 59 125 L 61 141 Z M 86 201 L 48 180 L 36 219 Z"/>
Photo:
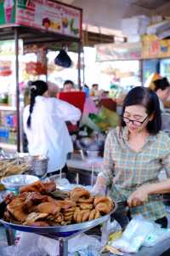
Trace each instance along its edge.
<path fill-rule="evenodd" d="M 19 174 L 3 177 L 1 183 L 3 183 L 6 189 L 18 190 L 20 187 L 34 183 L 37 180 L 39 180 L 39 178 L 36 176 Z"/>

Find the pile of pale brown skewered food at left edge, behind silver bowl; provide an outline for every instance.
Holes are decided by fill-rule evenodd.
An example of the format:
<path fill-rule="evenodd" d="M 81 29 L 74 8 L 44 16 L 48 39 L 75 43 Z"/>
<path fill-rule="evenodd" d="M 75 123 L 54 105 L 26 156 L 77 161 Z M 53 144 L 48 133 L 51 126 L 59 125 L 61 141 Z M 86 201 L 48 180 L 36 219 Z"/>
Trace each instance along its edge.
<path fill-rule="evenodd" d="M 26 172 L 29 166 L 26 163 L 20 164 L 18 160 L 0 160 L 0 178 Z"/>

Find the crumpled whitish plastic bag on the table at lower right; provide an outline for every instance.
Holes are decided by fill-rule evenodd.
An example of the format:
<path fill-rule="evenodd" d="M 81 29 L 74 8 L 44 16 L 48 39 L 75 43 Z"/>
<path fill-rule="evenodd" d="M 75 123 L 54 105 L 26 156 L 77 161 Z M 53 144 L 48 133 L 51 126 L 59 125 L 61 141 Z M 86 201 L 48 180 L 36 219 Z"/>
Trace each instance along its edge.
<path fill-rule="evenodd" d="M 155 226 L 155 223 L 151 223 L 139 215 L 127 224 L 122 237 L 112 241 L 111 246 L 125 253 L 137 253 L 139 247 L 144 244 L 146 237 L 155 229 Z"/>

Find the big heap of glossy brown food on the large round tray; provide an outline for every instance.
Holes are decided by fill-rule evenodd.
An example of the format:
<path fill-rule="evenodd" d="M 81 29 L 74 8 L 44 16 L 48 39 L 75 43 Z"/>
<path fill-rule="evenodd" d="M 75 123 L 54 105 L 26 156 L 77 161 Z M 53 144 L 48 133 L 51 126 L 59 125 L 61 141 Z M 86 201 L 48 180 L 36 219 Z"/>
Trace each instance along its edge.
<path fill-rule="evenodd" d="M 63 192 L 63 197 L 62 191 L 58 196 L 55 190 L 54 182 L 37 181 L 22 187 L 20 195 L 9 194 L 3 219 L 31 226 L 79 224 L 100 218 L 114 207 L 109 197 L 94 197 L 83 188 Z"/>

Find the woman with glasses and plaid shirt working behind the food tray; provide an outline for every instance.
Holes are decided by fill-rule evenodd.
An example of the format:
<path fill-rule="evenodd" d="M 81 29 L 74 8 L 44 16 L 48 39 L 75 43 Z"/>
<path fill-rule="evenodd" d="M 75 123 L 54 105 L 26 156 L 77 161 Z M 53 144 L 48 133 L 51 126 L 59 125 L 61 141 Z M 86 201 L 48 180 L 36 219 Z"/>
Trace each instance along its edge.
<path fill-rule="evenodd" d="M 161 194 L 170 192 L 170 178 L 159 181 L 163 168 L 170 177 L 170 137 L 161 131 L 159 99 L 138 86 L 125 97 L 121 125 L 106 137 L 94 194 L 105 195 L 108 188 L 114 201 L 127 202 L 130 218 L 142 214 L 167 227 Z"/>

